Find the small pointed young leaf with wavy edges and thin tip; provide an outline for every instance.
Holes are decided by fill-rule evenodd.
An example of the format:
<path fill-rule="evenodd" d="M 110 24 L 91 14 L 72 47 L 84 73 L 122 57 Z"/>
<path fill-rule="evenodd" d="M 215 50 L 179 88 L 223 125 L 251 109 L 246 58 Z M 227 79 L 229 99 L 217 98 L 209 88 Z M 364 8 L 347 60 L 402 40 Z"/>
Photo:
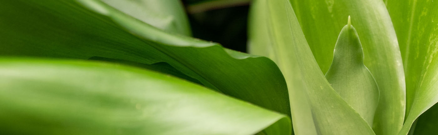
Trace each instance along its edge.
<path fill-rule="evenodd" d="M 333 89 L 368 125 L 373 125 L 379 101 L 379 88 L 370 70 L 364 65 L 364 52 L 356 29 L 350 24 L 342 28 L 333 52 L 333 62 L 325 78 Z"/>

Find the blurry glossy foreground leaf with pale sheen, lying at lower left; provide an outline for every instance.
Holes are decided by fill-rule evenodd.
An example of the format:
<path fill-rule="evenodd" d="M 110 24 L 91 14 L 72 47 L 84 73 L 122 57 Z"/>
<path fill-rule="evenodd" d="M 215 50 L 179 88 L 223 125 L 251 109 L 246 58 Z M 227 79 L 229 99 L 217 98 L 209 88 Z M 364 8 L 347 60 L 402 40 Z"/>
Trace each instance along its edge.
<path fill-rule="evenodd" d="M 0 59 L 2 135 L 253 135 L 286 115 L 144 69 Z"/>

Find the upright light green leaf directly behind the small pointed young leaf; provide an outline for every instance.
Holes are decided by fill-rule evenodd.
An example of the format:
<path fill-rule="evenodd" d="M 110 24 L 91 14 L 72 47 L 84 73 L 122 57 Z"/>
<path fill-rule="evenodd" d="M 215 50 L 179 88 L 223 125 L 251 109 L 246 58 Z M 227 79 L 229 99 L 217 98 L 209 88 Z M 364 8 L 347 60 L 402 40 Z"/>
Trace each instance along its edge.
<path fill-rule="evenodd" d="M 395 135 L 405 116 L 405 76 L 396 33 L 382 0 L 291 0 L 323 73 L 332 61 L 339 31 L 350 15 L 364 48 L 364 64 L 379 90 L 373 129 Z M 399 2 L 396 2 L 399 3 Z"/>

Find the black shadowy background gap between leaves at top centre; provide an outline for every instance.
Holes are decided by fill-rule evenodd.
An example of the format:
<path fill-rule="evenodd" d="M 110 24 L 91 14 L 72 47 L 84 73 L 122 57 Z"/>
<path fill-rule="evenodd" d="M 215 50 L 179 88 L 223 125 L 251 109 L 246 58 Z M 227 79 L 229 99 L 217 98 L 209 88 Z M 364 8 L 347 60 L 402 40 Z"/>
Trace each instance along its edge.
<path fill-rule="evenodd" d="M 190 6 L 201 0 L 182 0 Z M 246 52 L 249 6 L 239 5 L 199 13 L 187 13 L 193 36 L 218 42 L 226 48 Z"/>

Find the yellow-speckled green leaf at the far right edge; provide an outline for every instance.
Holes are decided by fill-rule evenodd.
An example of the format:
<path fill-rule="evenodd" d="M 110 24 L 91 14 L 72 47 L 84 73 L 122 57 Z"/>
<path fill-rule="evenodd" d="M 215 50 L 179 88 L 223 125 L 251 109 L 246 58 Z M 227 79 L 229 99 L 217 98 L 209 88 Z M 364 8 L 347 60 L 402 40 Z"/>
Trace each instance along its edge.
<path fill-rule="evenodd" d="M 438 3 L 387 0 L 406 74 L 406 135 L 420 114 L 438 102 Z M 438 126 L 438 125 L 436 125 Z"/>

